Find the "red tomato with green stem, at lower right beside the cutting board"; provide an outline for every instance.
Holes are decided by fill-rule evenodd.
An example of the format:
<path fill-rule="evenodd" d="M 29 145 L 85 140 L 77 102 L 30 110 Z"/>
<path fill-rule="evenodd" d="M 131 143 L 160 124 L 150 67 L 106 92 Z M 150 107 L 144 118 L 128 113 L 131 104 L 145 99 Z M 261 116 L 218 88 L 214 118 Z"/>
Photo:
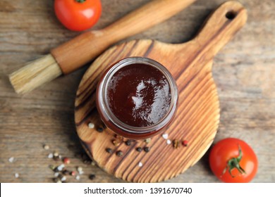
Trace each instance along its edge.
<path fill-rule="evenodd" d="M 231 183 L 250 182 L 258 169 L 257 156 L 252 148 L 235 138 L 216 143 L 210 151 L 209 164 L 216 177 Z"/>

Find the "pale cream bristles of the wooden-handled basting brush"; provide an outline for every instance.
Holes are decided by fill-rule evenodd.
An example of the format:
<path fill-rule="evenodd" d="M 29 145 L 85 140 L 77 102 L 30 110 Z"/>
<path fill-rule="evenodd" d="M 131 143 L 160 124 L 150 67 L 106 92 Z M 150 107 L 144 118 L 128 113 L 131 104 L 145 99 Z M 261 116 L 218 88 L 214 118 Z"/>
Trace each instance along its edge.
<path fill-rule="evenodd" d="M 28 63 L 9 75 L 16 93 L 25 94 L 62 75 L 61 68 L 50 54 Z"/>

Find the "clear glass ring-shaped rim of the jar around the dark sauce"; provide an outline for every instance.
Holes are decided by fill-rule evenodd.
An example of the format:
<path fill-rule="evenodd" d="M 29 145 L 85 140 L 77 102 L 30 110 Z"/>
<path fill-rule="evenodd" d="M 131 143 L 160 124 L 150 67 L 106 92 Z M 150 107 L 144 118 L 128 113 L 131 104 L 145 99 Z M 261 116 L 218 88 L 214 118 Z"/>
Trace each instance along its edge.
<path fill-rule="evenodd" d="M 109 81 L 111 80 L 111 77 L 118 72 L 123 67 L 126 67 L 128 65 L 133 64 L 143 64 L 143 65 L 149 65 L 154 68 L 157 68 L 165 77 L 166 80 L 169 83 L 169 88 L 171 91 L 171 102 L 169 106 L 169 110 L 167 110 L 164 117 L 161 118 L 157 123 L 154 125 L 149 125 L 147 127 L 133 127 L 131 125 L 127 125 L 126 123 L 119 120 L 116 115 L 111 111 L 111 108 L 109 107 L 109 103 L 107 101 L 107 89 Z M 106 70 L 104 73 L 104 76 L 102 78 L 102 82 L 99 83 L 98 90 L 99 93 L 98 101 L 102 103 L 102 110 L 104 111 L 104 115 L 106 116 L 106 120 L 111 121 L 112 124 L 116 125 L 119 129 L 121 129 L 123 132 L 128 132 L 131 134 L 147 134 L 149 132 L 153 132 L 156 129 L 163 128 L 165 125 L 167 125 L 171 118 L 173 117 L 174 113 L 176 112 L 176 106 L 178 101 L 178 89 L 176 86 L 175 80 L 173 80 L 173 77 L 169 70 L 164 67 L 164 65 L 161 65 L 161 63 L 154 61 L 151 58 L 145 58 L 145 57 L 129 57 L 124 58 L 121 61 L 118 61 L 114 65 L 111 65 L 111 67 Z"/>

